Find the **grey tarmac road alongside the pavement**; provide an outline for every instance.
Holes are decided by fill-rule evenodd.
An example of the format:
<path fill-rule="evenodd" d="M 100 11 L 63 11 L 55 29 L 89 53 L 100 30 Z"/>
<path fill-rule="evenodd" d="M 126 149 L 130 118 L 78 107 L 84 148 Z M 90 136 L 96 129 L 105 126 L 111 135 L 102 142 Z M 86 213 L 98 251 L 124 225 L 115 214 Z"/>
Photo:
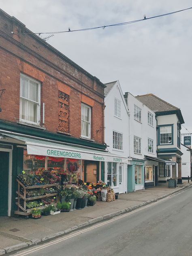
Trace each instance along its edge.
<path fill-rule="evenodd" d="M 192 188 L 9 255 L 191 256 Z M 7 254 L 8 255 L 8 254 Z"/>

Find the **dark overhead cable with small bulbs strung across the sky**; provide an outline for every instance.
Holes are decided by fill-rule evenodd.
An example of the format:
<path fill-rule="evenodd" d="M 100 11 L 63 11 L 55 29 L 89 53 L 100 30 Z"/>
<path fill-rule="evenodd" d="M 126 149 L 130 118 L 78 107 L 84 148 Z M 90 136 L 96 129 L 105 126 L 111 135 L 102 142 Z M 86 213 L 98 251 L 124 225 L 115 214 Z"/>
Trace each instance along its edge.
<path fill-rule="evenodd" d="M 93 28 L 81 28 L 81 29 L 75 29 L 75 30 L 71 30 L 70 28 L 68 28 L 68 30 L 65 30 L 65 31 L 37 32 L 37 33 L 33 33 L 33 32 L 30 32 L 30 33 L 14 33 L 13 31 L 11 31 L 11 34 L 15 34 L 15 35 L 18 35 L 18 34 L 23 34 L 23 35 L 28 35 L 28 34 L 38 34 L 38 35 L 41 35 L 41 34 L 61 34 L 61 33 L 66 33 L 66 32 L 77 32 L 77 31 L 95 30 L 95 29 L 98 29 L 98 28 L 105 29 L 107 27 L 129 25 L 131 23 L 145 21 L 147 19 L 154 19 L 154 18 L 166 16 L 166 15 L 172 15 L 172 14 L 179 13 L 179 12 L 182 12 L 182 11 L 186 11 L 186 10 L 189 10 L 189 9 L 192 9 L 192 7 L 187 8 L 187 9 L 182 9 L 182 10 L 179 10 L 179 11 L 174 11 L 174 12 L 171 12 L 171 13 L 164 13 L 164 14 L 161 14 L 161 15 L 156 15 L 156 16 L 149 17 L 149 18 L 146 18 L 146 16 L 144 15 L 144 19 L 137 19 L 137 20 L 133 20 L 133 21 L 126 21 L 126 22 L 115 23 L 115 24 L 106 25 L 106 26 L 98 26 L 98 27 L 93 27 Z"/>

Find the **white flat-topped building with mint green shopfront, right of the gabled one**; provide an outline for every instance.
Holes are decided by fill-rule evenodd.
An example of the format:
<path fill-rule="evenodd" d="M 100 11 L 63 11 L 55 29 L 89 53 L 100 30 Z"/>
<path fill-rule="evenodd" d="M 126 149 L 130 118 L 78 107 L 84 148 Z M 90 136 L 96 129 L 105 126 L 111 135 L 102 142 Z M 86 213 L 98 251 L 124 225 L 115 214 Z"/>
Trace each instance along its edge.
<path fill-rule="evenodd" d="M 157 158 L 155 113 L 129 92 L 124 97 L 130 113 L 129 147 L 132 158 L 132 165 L 128 166 L 128 191 L 134 191 L 157 185 L 158 166 L 165 161 Z"/>

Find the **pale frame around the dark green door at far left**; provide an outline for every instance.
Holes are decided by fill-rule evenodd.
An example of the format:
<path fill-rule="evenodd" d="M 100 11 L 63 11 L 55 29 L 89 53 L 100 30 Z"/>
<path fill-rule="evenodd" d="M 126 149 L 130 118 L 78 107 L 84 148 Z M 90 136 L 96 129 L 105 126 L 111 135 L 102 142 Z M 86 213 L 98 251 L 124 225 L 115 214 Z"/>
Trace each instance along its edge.
<path fill-rule="evenodd" d="M 11 193 L 12 193 L 12 155 L 13 155 L 13 146 L 10 145 L 12 148 L 1 148 L 0 151 L 9 152 L 9 182 L 8 182 L 8 216 L 11 216 Z"/>

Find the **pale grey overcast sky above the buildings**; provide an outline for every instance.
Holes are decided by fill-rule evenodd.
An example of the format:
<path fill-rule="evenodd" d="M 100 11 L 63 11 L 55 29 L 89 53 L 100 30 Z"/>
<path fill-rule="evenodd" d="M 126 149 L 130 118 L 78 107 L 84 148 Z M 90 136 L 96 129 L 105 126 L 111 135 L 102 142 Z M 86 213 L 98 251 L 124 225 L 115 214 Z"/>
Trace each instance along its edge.
<path fill-rule="evenodd" d="M 33 32 L 63 31 L 152 17 L 191 0 L 0 0 Z M 153 93 L 179 107 L 192 132 L 192 9 L 125 26 L 55 35 L 47 41 L 103 83 Z M 186 129 L 182 129 L 187 133 Z"/>

